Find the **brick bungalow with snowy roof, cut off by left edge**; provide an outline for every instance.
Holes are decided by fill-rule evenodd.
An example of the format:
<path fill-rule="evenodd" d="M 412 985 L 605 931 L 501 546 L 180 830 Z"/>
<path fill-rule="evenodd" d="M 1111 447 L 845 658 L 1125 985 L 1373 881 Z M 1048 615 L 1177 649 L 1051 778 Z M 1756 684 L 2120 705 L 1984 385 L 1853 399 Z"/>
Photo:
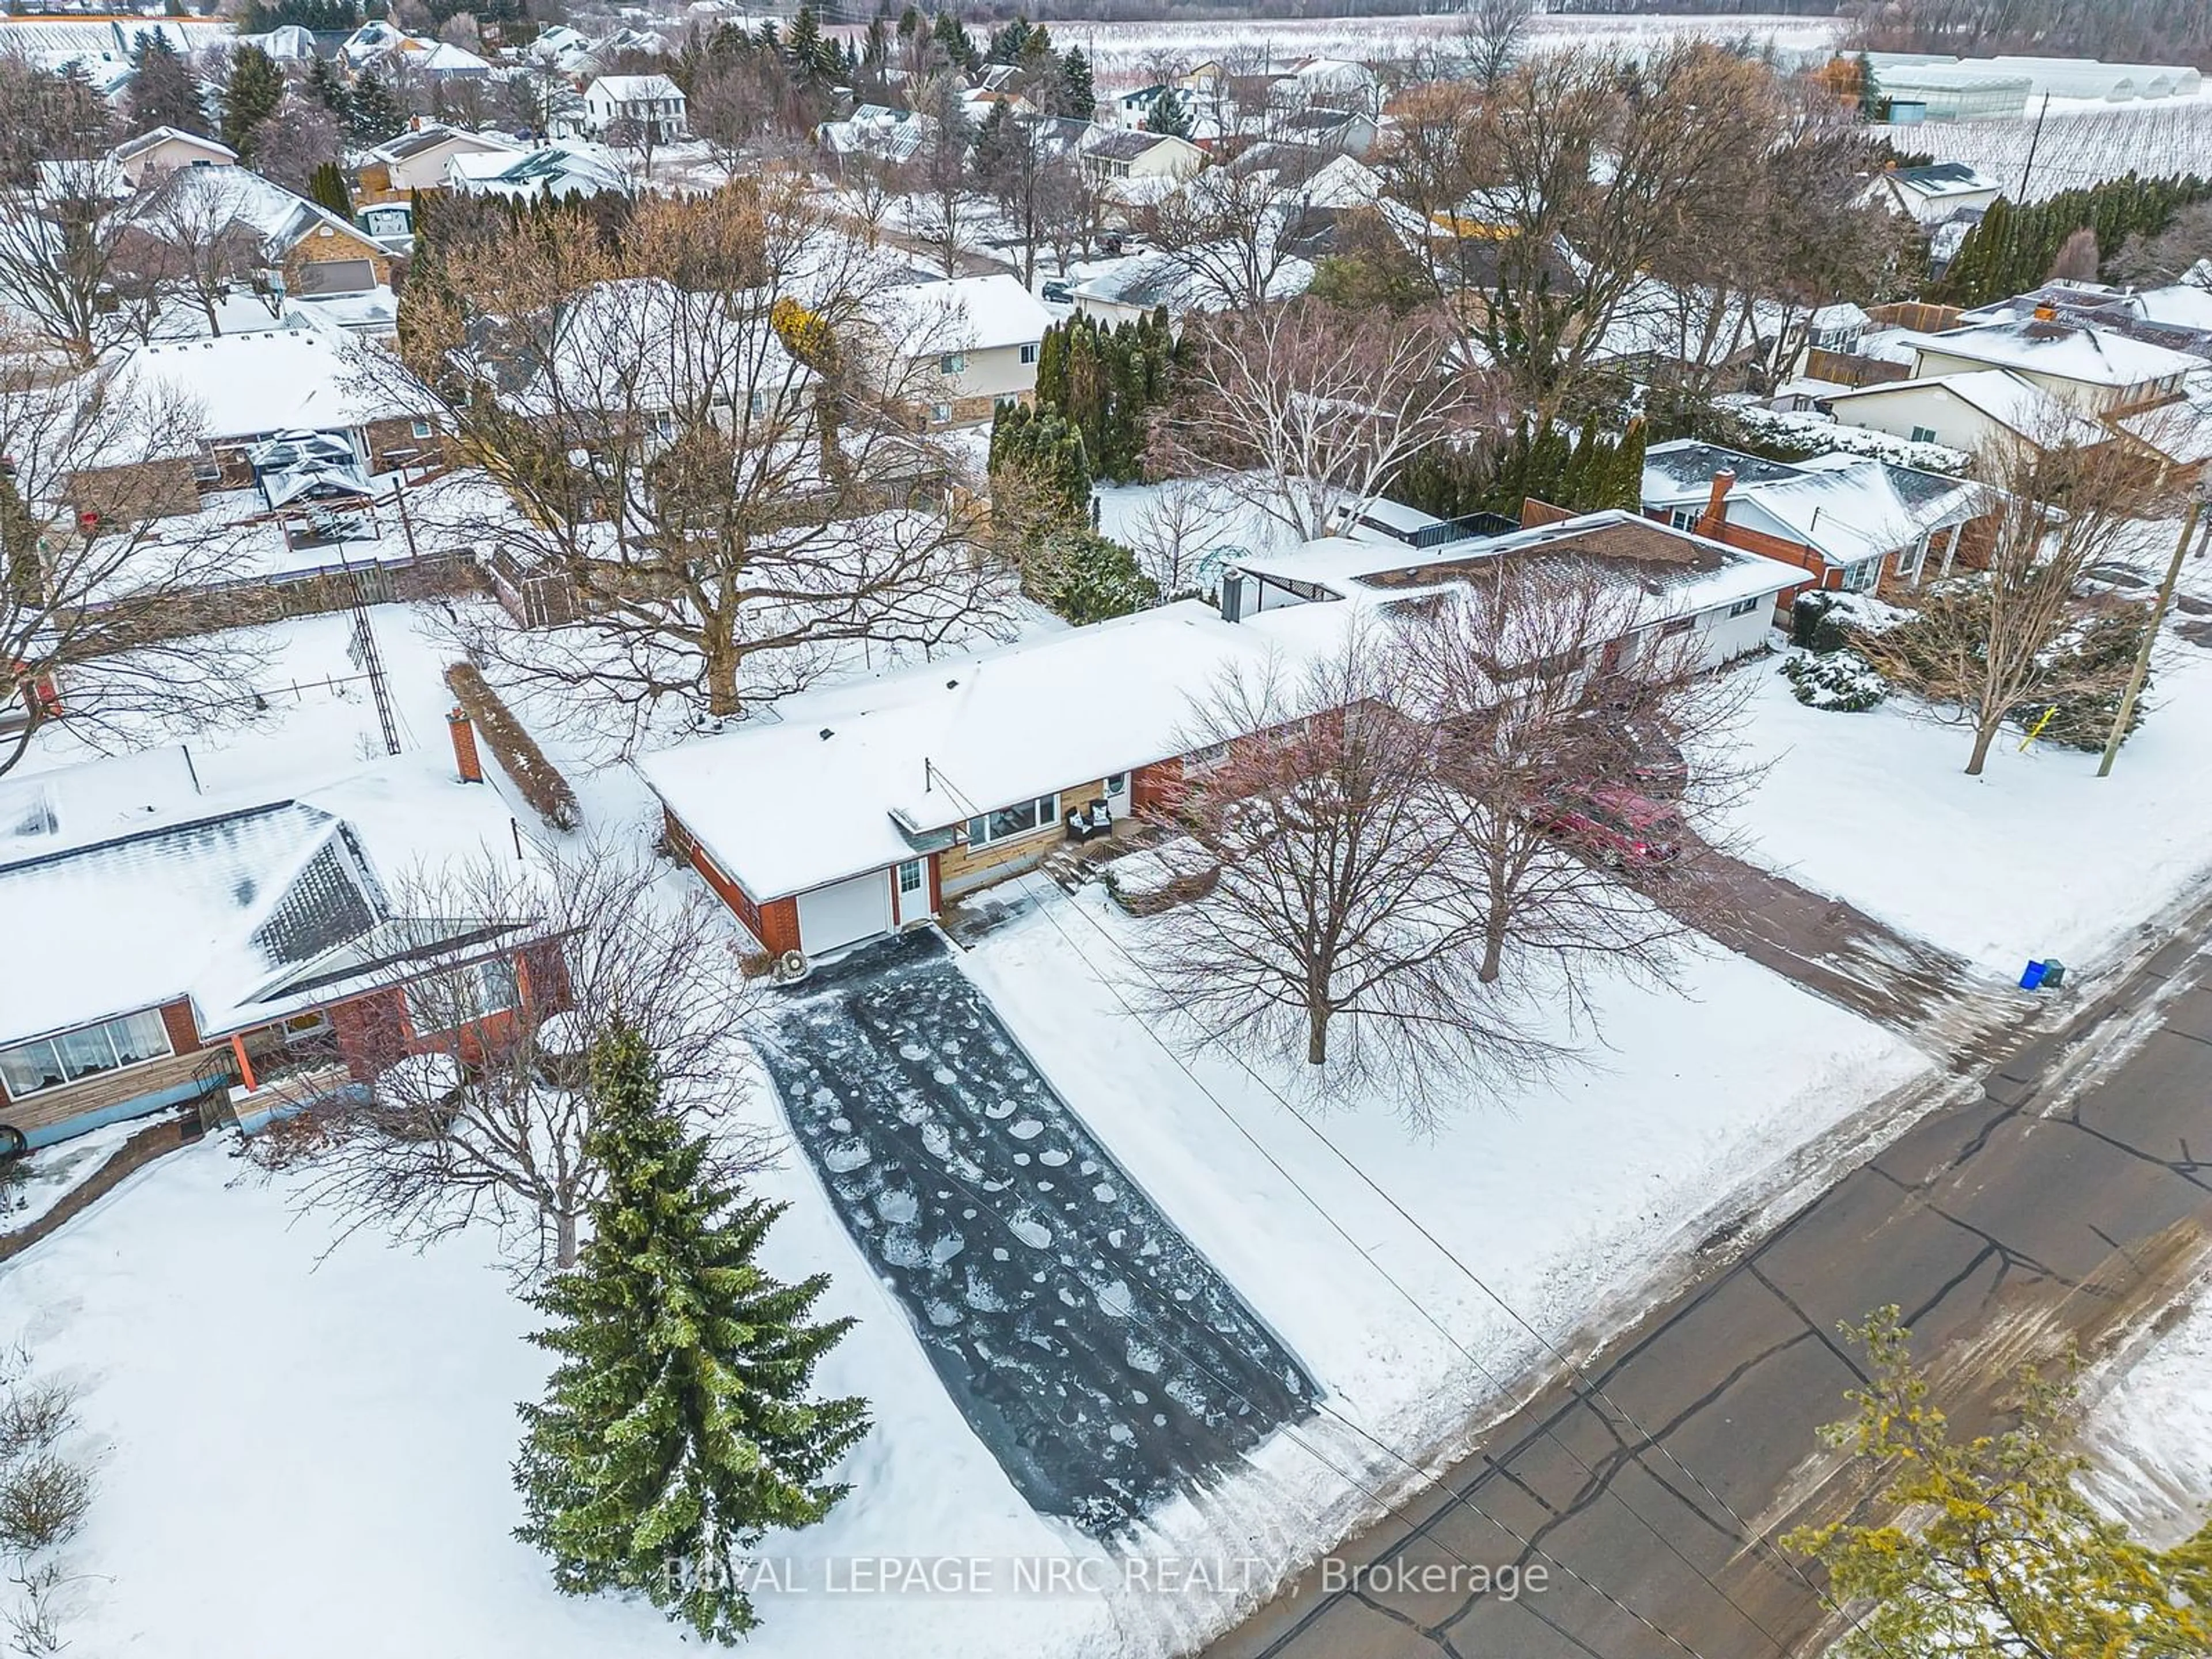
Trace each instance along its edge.
<path fill-rule="evenodd" d="M 252 1128 L 566 1002 L 524 922 L 396 916 L 332 805 L 210 803 L 181 748 L 0 783 L 0 914 L 38 940 L 0 1000 L 0 1150 L 190 1104 Z"/>

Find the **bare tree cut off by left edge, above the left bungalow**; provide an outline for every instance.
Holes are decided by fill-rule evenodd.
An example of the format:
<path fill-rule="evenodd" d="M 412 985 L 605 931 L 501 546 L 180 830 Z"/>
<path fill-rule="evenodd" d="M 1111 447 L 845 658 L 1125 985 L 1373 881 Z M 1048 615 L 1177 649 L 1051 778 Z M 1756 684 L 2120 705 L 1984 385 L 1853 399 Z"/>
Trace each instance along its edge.
<path fill-rule="evenodd" d="M 0 772 L 46 726 L 93 748 L 252 717 L 263 646 L 179 626 L 248 568 L 243 538 L 186 511 L 199 411 L 102 367 L 53 383 L 0 352 Z M 181 502 L 179 502 L 181 495 Z"/>

